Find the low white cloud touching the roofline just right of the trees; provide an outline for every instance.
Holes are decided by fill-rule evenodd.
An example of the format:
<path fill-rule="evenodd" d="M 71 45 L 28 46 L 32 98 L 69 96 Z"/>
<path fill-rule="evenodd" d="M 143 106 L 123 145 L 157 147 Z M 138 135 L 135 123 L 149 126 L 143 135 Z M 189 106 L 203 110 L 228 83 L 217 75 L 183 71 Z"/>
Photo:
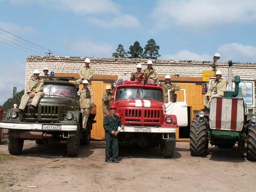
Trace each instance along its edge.
<path fill-rule="evenodd" d="M 197 53 L 189 52 L 187 50 L 182 50 L 177 52 L 175 55 L 163 55 L 163 59 L 170 59 L 170 60 L 203 60 L 203 61 L 211 61 L 212 56 L 207 54 L 199 55 Z"/>

